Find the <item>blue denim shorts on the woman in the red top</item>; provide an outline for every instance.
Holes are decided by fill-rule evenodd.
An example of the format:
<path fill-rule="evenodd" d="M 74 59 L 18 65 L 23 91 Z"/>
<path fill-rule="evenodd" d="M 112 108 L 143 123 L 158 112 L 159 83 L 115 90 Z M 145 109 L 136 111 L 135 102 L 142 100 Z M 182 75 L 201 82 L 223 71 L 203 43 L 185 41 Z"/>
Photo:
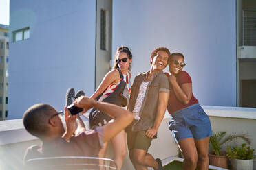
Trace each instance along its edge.
<path fill-rule="evenodd" d="M 184 138 L 199 140 L 211 136 L 211 122 L 200 104 L 193 104 L 171 114 L 169 130 L 176 141 Z"/>

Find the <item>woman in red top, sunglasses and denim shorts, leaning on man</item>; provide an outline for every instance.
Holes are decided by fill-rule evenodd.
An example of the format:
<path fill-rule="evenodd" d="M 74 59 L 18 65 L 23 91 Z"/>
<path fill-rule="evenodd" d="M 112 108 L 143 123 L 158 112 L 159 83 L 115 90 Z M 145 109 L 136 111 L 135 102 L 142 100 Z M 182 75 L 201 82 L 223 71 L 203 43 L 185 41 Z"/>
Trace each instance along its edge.
<path fill-rule="evenodd" d="M 170 82 L 169 129 L 185 158 L 182 169 L 208 169 L 211 123 L 192 93 L 191 77 L 182 71 L 185 65 L 182 53 L 171 54 L 167 73 Z"/>

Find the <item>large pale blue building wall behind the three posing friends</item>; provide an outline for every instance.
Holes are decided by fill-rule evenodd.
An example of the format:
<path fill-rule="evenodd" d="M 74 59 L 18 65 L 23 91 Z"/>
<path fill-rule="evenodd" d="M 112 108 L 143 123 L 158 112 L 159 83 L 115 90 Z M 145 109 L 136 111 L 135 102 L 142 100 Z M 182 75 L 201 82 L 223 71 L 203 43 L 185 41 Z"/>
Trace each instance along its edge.
<path fill-rule="evenodd" d="M 112 53 L 131 47 L 133 77 L 156 47 L 184 53 L 200 103 L 236 106 L 235 20 L 235 0 L 113 1 Z"/>

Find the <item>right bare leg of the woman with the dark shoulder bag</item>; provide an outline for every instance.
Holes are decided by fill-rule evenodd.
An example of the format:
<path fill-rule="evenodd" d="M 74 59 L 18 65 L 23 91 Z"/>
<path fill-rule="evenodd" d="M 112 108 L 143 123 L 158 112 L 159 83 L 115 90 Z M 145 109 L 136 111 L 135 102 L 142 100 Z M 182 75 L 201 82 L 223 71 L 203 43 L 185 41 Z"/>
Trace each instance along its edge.
<path fill-rule="evenodd" d="M 111 139 L 112 146 L 114 149 L 114 161 L 118 166 L 118 170 L 122 168 L 122 162 L 126 154 L 126 139 L 125 130 L 122 130 L 114 138 Z"/>

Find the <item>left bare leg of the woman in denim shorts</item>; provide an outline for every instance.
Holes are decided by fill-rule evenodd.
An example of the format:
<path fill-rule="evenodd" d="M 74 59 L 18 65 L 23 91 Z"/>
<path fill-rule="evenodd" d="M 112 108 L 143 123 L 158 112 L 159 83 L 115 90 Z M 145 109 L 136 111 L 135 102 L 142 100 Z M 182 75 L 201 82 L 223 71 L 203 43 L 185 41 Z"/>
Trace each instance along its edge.
<path fill-rule="evenodd" d="M 198 152 L 195 147 L 194 138 L 184 138 L 178 141 L 178 145 L 185 159 L 182 164 L 184 170 L 194 170 L 198 161 Z"/>

